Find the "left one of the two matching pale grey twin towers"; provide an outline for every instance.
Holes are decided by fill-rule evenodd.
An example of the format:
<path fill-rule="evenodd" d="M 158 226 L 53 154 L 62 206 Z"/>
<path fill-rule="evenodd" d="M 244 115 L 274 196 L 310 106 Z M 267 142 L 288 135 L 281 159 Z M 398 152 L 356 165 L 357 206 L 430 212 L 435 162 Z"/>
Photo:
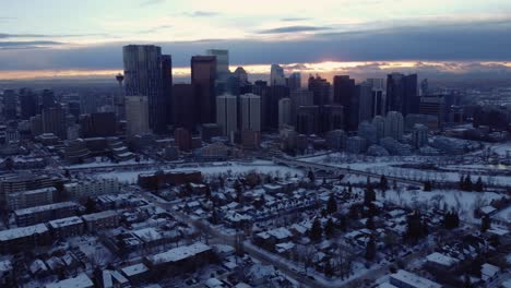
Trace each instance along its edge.
<path fill-rule="evenodd" d="M 233 95 L 216 97 L 216 123 L 222 128 L 222 134 L 234 141 L 238 131 L 238 99 Z"/>

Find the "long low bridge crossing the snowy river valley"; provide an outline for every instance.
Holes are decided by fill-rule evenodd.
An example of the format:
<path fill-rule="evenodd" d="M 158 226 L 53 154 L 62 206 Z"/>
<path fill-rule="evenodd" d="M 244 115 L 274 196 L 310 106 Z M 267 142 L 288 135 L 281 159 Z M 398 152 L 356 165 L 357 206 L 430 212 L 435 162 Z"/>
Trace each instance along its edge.
<path fill-rule="evenodd" d="M 375 173 L 375 172 L 368 172 L 368 171 L 343 168 L 343 167 L 335 167 L 335 166 L 318 164 L 318 163 L 309 163 L 309 161 L 297 160 L 297 159 L 284 159 L 284 158 L 274 157 L 273 161 L 278 165 L 284 165 L 284 166 L 288 166 L 288 167 L 293 167 L 297 169 L 312 170 L 314 172 L 330 172 L 335 176 L 350 173 L 350 175 L 370 177 L 370 178 L 376 178 L 376 179 L 380 179 L 382 176 L 382 175 Z M 392 176 L 387 176 L 387 175 L 385 177 L 390 182 L 395 181 L 397 183 L 408 184 L 408 185 L 418 185 L 418 187 L 423 185 L 423 182 L 420 181 L 409 180 L 409 179 L 400 178 L 400 177 L 392 177 Z"/>

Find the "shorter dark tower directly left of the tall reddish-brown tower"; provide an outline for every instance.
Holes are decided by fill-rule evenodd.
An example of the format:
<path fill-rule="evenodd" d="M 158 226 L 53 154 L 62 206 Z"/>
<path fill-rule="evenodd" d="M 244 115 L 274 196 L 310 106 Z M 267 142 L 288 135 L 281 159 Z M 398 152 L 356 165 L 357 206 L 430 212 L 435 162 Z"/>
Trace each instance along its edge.
<path fill-rule="evenodd" d="M 195 87 L 192 84 L 174 84 L 174 127 L 194 131 L 199 122 L 199 113 L 200 111 L 195 106 Z"/>

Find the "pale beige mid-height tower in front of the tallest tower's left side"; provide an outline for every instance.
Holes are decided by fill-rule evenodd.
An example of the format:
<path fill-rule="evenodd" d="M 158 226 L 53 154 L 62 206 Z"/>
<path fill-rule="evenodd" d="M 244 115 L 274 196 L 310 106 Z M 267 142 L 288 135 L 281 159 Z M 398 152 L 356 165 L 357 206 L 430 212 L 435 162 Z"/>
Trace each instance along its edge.
<path fill-rule="evenodd" d="M 147 96 L 126 96 L 126 132 L 128 136 L 151 133 Z"/>

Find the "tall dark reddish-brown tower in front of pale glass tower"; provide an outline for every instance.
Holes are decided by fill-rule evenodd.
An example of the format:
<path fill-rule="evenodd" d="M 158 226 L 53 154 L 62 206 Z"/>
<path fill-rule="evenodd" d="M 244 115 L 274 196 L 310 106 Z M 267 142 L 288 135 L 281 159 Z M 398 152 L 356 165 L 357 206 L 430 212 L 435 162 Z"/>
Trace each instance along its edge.
<path fill-rule="evenodd" d="M 215 122 L 216 117 L 216 58 L 194 56 L 191 58 L 191 82 L 195 92 L 195 115 L 199 123 Z"/>

